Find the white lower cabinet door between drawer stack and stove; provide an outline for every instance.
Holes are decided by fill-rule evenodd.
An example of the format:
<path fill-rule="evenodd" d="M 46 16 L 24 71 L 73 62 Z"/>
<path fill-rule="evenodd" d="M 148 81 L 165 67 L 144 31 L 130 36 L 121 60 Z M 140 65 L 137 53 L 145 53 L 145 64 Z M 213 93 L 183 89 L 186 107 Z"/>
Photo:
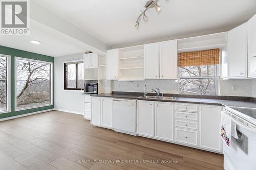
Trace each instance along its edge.
<path fill-rule="evenodd" d="M 200 106 L 200 147 L 221 151 L 222 142 L 220 137 L 221 107 Z"/>

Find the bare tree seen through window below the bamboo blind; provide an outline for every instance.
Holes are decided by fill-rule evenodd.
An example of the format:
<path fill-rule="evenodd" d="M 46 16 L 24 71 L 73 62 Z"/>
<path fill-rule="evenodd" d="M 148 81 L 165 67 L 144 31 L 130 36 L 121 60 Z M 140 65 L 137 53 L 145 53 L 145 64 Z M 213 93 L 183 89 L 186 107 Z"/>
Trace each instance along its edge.
<path fill-rule="evenodd" d="M 218 94 L 218 65 L 179 67 L 181 94 Z"/>

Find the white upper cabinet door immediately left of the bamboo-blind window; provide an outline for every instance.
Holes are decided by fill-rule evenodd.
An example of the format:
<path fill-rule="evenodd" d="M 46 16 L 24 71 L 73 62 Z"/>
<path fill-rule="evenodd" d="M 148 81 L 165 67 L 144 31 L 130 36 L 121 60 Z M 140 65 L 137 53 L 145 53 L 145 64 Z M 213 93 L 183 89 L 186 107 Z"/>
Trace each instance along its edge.
<path fill-rule="evenodd" d="M 160 43 L 160 79 L 177 79 L 177 40 Z"/>

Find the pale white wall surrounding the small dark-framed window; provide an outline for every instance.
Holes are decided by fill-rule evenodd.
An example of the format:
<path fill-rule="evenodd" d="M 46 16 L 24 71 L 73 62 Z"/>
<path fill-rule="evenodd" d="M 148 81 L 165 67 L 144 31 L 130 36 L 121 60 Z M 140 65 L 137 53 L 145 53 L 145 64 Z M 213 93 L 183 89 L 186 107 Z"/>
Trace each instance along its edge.
<path fill-rule="evenodd" d="M 54 58 L 54 106 L 67 112 L 83 114 L 82 91 L 64 91 L 63 62 L 83 59 L 83 54 Z"/>

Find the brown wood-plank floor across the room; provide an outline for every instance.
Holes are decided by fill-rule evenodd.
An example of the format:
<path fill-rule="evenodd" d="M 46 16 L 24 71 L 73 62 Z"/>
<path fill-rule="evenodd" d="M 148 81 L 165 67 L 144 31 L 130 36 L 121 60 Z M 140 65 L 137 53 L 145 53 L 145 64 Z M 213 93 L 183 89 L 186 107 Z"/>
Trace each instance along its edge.
<path fill-rule="evenodd" d="M 223 156 L 51 111 L 0 122 L 0 169 L 223 169 Z M 173 161 L 173 162 L 170 162 Z"/>

